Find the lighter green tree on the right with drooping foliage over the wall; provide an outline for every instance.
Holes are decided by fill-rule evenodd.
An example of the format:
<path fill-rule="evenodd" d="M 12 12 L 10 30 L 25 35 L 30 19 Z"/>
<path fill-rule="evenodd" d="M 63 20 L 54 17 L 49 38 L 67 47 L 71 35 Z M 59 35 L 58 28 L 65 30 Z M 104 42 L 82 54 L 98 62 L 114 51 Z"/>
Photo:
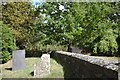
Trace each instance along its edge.
<path fill-rule="evenodd" d="M 85 6 L 86 4 L 87 6 Z M 75 10 L 78 11 L 77 13 L 80 13 L 80 11 L 84 12 L 83 18 L 81 18 L 82 20 L 78 19 L 84 29 L 79 39 L 80 45 L 91 48 L 94 53 L 110 54 L 118 51 L 118 44 L 116 42 L 116 38 L 118 37 L 118 24 L 109 19 L 109 15 L 116 13 L 116 9 L 112 7 L 112 4 L 113 3 L 74 4 Z M 81 7 L 81 5 L 83 5 L 85 9 Z"/>

